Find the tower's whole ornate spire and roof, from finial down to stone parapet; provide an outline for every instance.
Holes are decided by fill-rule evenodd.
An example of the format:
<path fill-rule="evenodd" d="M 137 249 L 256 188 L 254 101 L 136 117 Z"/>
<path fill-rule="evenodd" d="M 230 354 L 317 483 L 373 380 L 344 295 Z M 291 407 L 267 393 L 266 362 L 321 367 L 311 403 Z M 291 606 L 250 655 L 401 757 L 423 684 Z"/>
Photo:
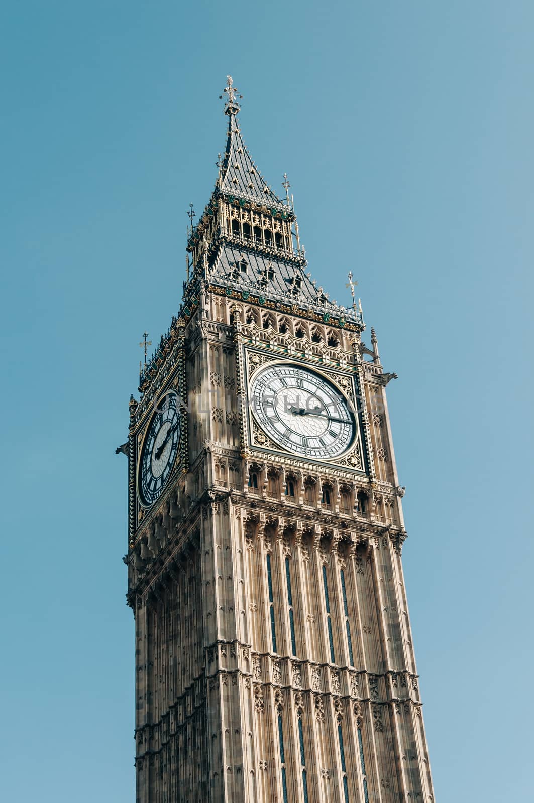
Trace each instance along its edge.
<path fill-rule="evenodd" d="M 191 221 L 188 230 L 191 265 L 188 261 L 180 315 L 191 316 L 199 304 L 201 282 L 207 281 L 212 289 L 217 287 L 228 297 L 237 293 L 259 306 L 274 304 L 276 309 L 300 312 L 324 324 L 336 320 L 340 327 L 359 326 L 361 312 L 355 299 L 348 311 L 330 300 L 305 272 L 306 254 L 298 236 L 287 174 L 281 184 L 285 190 L 281 200 L 261 176 L 244 144 L 237 122 L 242 96 L 230 75 L 220 99 L 224 96 L 226 148 L 216 161 L 218 177 L 212 197 L 199 221 L 195 226 Z M 351 290 L 354 292 L 353 284 Z"/>

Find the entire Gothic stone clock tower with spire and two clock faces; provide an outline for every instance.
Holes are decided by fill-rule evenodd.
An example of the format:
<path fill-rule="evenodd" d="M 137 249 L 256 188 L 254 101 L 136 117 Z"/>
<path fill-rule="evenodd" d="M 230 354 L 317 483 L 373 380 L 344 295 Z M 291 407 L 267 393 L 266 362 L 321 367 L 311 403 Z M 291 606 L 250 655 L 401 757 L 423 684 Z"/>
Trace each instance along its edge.
<path fill-rule="evenodd" d="M 433 800 L 374 330 L 306 272 L 228 79 L 183 304 L 129 402 L 138 803 Z M 348 286 L 351 286 L 351 275 Z"/>

